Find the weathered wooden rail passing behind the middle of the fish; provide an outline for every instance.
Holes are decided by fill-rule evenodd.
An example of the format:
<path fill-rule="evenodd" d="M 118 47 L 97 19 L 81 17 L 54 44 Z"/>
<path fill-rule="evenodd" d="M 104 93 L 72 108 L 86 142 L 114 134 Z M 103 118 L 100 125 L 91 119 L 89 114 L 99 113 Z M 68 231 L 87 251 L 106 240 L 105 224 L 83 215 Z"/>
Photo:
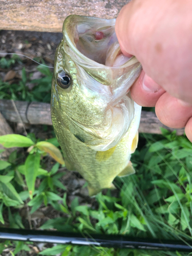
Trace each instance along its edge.
<path fill-rule="evenodd" d="M 0 112 L 5 119 L 11 122 L 20 122 L 20 119 L 22 119 L 24 123 L 52 125 L 49 103 L 26 101 L 14 102 L 20 117 L 18 116 L 18 113 L 15 112 L 11 100 L 0 100 Z M 142 111 L 139 126 L 140 133 L 161 134 L 160 127 L 169 131 L 177 130 L 178 135 L 182 135 L 184 133 L 184 129 L 170 129 L 163 125 L 155 113 Z"/>

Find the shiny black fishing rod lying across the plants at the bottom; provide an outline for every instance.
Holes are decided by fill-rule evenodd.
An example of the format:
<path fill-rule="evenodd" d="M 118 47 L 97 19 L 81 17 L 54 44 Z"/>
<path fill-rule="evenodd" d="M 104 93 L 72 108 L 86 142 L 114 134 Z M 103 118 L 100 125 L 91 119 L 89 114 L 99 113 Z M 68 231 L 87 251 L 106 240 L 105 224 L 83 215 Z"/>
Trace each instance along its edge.
<path fill-rule="evenodd" d="M 192 252 L 192 242 L 130 238 L 109 234 L 80 234 L 47 230 L 0 228 L 0 240 L 72 245 L 94 245 L 113 248 L 170 250 Z"/>

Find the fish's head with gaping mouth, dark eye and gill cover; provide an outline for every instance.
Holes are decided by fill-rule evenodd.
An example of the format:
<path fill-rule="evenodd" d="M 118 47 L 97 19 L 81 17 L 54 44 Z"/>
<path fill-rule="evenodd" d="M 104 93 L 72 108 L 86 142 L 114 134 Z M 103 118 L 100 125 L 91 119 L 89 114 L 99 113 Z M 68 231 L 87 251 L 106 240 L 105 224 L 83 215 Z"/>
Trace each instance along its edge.
<path fill-rule="evenodd" d="M 129 91 L 140 72 L 138 60 L 120 51 L 115 19 L 68 16 L 55 55 L 52 119 L 92 149 L 109 150 L 134 118 Z"/>

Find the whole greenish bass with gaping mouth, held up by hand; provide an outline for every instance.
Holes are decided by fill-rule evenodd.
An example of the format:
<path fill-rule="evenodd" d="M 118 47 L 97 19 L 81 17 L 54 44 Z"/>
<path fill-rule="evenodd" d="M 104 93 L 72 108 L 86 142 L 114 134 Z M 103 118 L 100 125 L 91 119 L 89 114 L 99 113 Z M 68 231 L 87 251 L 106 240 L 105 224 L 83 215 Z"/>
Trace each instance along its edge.
<path fill-rule="evenodd" d="M 142 67 L 121 52 L 115 21 L 68 16 L 55 53 L 52 123 L 66 167 L 88 182 L 90 196 L 135 173 L 141 106 L 130 88 Z"/>

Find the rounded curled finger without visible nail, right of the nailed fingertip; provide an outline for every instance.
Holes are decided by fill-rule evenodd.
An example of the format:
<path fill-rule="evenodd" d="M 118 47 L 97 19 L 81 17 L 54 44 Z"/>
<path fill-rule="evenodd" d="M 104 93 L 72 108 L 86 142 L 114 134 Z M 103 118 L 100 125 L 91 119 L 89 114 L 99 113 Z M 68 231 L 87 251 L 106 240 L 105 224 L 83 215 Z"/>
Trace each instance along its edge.
<path fill-rule="evenodd" d="M 185 127 L 192 116 L 192 106 L 165 92 L 158 99 L 155 112 L 164 125 L 178 129 Z"/>

